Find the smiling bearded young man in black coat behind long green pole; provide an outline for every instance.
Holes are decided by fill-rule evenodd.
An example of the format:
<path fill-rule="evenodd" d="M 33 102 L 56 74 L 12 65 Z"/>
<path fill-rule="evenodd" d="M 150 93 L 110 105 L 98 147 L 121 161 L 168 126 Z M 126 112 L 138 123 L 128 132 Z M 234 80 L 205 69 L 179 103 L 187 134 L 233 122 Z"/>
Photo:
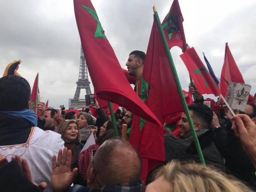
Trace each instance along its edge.
<path fill-rule="evenodd" d="M 204 104 L 192 104 L 188 106 L 189 113 L 194 123 L 196 134 L 204 155 L 204 160 L 206 164 L 211 164 L 219 167 L 225 171 L 225 166 L 223 158 L 220 155 L 218 149 L 213 142 L 215 134 L 210 128 L 212 123 L 213 111 Z M 171 157 L 180 160 L 193 160 L 200 163 L 199 156 L 196 150 L 196 145 L 192 136 L 188 124 L 188 118 L 185 113 L 181 115 L 181 120 L 179 122 L 180 126 L 180 145 L 184 147 L 184 155 L 176 156 L 175 153 Z M 167 137 L 165 137 L 167 139 Z M 172 138 L 172 142 L 169 142 L 165 139 L 165 149 L 169 148 L 172 145 L 172 142 L 175 142 L 175 138 Z M 177 139 L 178 140 L 178 139 Z M 179 153 L 182 154 L 182 153 Z M 166 156 L 168 156 L 168 151 L 166 151 Z M 169 156 L 170 158 L 170 156 Z M 166 159 L 167 161 L 171 159 Z"/>

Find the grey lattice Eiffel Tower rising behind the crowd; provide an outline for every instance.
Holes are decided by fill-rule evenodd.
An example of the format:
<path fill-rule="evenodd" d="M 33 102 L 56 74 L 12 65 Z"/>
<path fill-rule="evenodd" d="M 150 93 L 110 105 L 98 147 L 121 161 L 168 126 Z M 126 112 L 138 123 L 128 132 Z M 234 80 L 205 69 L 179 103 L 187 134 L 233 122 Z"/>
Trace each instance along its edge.
<path fill-rule="evenodd" d="M 74 95 L 74 99 L 71 100 L 71 105 L 69 109 L 80 109 L 85 107 L 85 98 L 79 99 L 81 89 L 85 89 L 86 95 L 91 94 L 90 82 L 88 80 L 88 73 L 87 73 L 87 65 L 84 59 L 84 50 L 81 45 L 81 52 L 80 52 L 80 67 L 79 67 L 79 77 L 78 81 L 76 82 L 76 92 Z"/>

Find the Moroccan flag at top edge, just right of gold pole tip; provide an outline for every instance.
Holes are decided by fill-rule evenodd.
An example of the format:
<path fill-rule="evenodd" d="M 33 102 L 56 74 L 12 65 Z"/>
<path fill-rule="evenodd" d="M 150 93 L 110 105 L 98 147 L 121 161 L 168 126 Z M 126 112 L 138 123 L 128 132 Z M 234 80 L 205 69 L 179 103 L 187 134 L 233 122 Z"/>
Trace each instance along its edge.
<path fill-rule="evenodd" d="M 170 11 L 162 22 L 162 26 L 169 48 L 178 46 L 184 52 L 187 49 L 187 45 L 182 22 L 183 16 L 180 11 L 179 1 L 174 0 Z"/>

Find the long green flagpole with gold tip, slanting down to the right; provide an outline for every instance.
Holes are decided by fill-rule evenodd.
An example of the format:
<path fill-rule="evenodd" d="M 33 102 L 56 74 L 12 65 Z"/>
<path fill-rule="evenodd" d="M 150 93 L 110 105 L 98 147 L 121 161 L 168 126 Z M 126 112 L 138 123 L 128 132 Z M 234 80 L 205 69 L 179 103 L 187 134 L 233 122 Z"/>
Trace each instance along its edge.
<path fill-rule="evenodd" d="M 188 118 L 189 127 L 190 127 L 190 130 L 191 130 L 192 135 L 194 137 L 194 141 L 195 141 L 195 144 L 196 144 L 196 149 L 197 149 L 199 158 L 201 160 L 201 163 L 205 165 L 202 149 L 200 147 L 200 144 L 199 144 L 199 141 L 198 141 L 198 138 L 197 138 L 197 135 L 196 135 L 196 131 L 195 131 L 195 128 L 194 128 L 194 124 L 193 124 L 193 121 L 191 119 L 191 116 L 190 116 L 190 113 L 189 113 L 189 110 L 188 110 L 188 106 L 187 106 L 184 94 L 182 92 L 182 89 L 181 89 L 180 80 L 179 80 L 176 68 L 174 66 L 173 60 L 172 60 L 172 55 L 171 55 L 171 52 L 169 50 L 169 46 L 167 44 L 167 41 L 166 41 L 166 38 L 165 38 L 165 35 L 164 35 L 164 30 L 162 28 L 162 24 L 159 20 L 158 13 L 156 11 L 156 6 L 153 7 L 153 10 L 154 10 L 156 22 L 157 22 L 157 25 L 158 25 L 158 28 L 160 30 L 161 37 L 162 37 L 162 40 L 163 40 L 163 43 L 164 43 L 164 48 L 165 48 L 166 54 L 168 56 L 170 66 L 172 68 L 172 73 L 173 73 L 173 76 L 174 76 L 174 79 L 175 79 L 175 83 L 176 83 L 176 86 L 177 86 L 179 94 L 180 94 L 180 99 L 182 101 L 182 105 L 184 107 L 185 113 L 186 113 L 187 118 Z"/>

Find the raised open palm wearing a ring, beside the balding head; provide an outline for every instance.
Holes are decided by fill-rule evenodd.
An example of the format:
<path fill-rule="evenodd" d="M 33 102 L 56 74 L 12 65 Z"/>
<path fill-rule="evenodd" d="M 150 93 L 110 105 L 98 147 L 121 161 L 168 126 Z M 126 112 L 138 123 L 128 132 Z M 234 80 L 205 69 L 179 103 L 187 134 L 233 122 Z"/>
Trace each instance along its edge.
<path fill-rule="evenodd" d="M 66 147 L 63 154 L 62 150 L 59 150 L 57 162 L 56 156 L 52 156 L 51 186 L 54 192 L 64 191 L 73 183 L 78 169 L 71 171 L 71 160 L 71 150 Z"/>

